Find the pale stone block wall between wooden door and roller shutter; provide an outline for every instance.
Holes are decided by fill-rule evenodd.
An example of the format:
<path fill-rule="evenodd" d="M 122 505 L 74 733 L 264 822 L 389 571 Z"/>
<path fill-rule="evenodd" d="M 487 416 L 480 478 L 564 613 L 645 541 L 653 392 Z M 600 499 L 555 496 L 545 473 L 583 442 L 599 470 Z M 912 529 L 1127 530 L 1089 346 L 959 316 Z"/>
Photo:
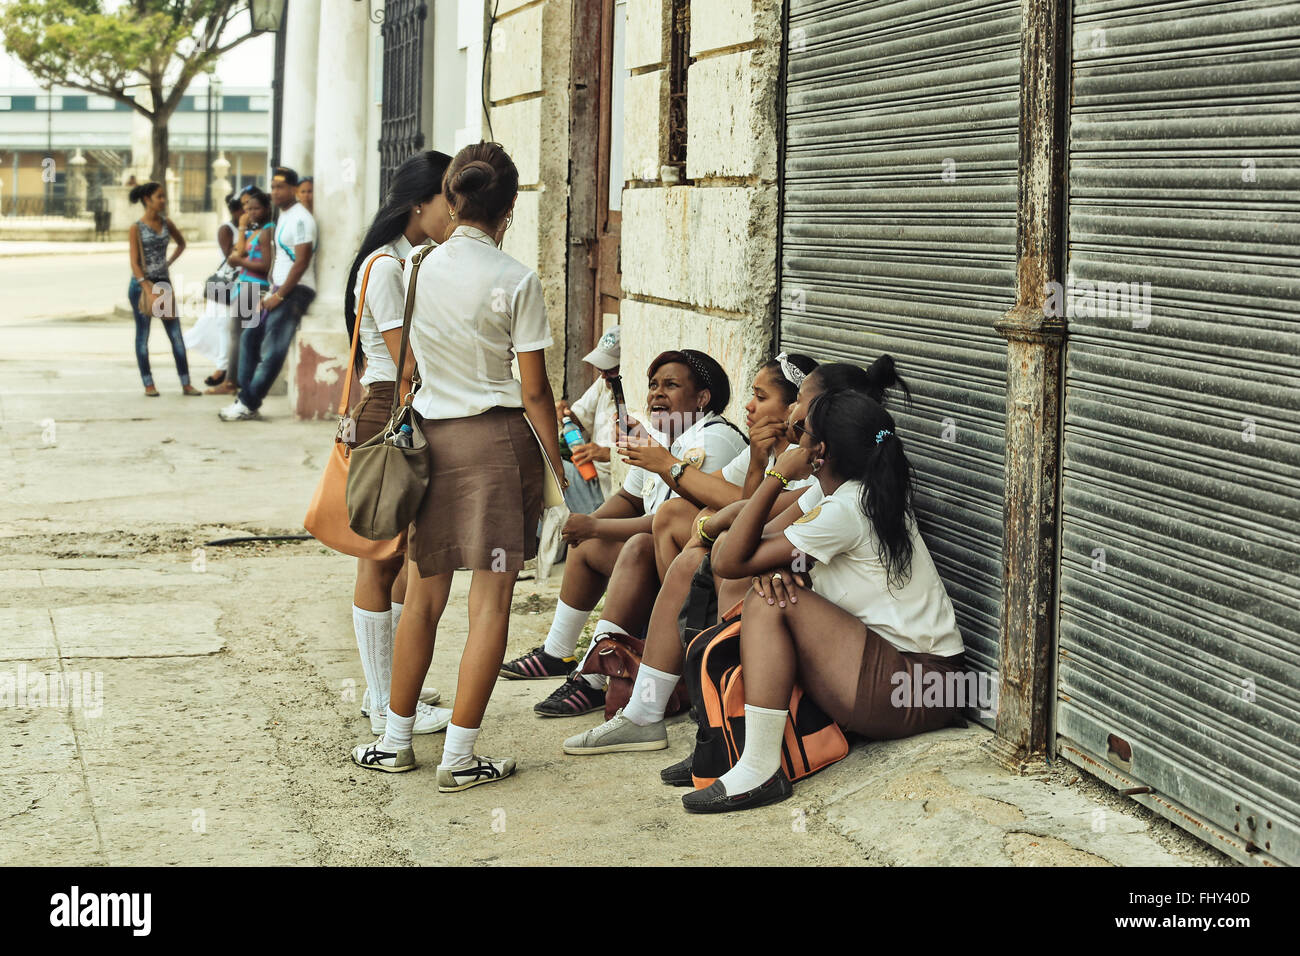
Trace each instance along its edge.
<path fill-rule="evenodd" d="M 699 349 L 749 385 L 771 355 L 776 302 L 776 85 L 780 9 L 690 5 L 686 181 L 663 185 L 668 151 L 668 0 L 629 0 L 623 194 L 623 354 L 628 397 L 666 349 Z"/>

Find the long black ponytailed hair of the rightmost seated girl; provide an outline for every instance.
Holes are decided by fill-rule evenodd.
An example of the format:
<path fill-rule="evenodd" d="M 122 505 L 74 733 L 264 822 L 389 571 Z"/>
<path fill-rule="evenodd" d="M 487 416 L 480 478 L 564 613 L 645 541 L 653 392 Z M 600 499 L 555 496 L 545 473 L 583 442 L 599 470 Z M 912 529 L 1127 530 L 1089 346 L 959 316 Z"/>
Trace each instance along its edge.
<path fill-rule="evenodd" d="M 913 470 L 893 416 L 862 392 L 840 389 L 812 399 L 807 428 L 826 442 L 831 470 L 862 483 L 862 512 L 875 531 L 887 585 L 901 588 L 911 578 Z"/>

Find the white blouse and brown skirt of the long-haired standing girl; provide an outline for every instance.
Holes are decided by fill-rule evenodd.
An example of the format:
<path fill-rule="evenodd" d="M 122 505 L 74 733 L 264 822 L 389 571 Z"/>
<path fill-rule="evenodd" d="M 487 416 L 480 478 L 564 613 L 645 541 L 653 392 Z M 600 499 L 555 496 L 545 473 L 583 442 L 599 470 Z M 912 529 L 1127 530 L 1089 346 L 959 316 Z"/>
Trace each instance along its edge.
<path fill-rule="evenodd" d="M 361 376 L 365 392 L 361 401 L 348 411 L 348 418 L 352 419 L 352 440 L 348 444 L 352 447 L 378 434 L 393 414 L 393 390 L 398 386 L 398 367 L 384 341 L 384 333 L 402 328 L 406 308 L 402 263 L 411 255 L 411 242 L 399 235 L 370 252 L 356 271 L 352 294 L 358 304 L 363 306 L 356 321 L 361 324 L 358 334 L 361 351 L 365 352 L 365 375 Z M 365 286 L 365 302 L 361 303 L 361 281 L 365 278 L 367 267 L 370 269 L 370 278 Z"/>

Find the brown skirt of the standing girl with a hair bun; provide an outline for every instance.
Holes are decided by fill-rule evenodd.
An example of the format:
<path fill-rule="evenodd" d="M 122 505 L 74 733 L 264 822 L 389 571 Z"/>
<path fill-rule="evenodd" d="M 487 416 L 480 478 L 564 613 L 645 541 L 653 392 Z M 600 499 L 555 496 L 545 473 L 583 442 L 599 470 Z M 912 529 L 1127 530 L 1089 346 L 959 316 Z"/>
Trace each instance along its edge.
<path fill-rule="evenodd" d="M 411 524 L 407 555 L 421 578 L 460 567 L 519 572 L 537 557 L 542 450 L 523 408 L 421 423 L 429 488 Z"/>

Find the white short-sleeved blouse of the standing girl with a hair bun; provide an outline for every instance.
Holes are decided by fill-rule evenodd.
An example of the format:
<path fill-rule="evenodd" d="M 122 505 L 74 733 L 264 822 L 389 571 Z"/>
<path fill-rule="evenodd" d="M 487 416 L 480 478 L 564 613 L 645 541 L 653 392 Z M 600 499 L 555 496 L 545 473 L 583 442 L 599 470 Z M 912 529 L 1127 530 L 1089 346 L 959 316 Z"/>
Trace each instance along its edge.
<path fill-rule="evenodd" d="M 410 268 L 407 259 L 403 276 Z M 425 254 L 411 316 L 420 415 L 463 419 L 497 406 L 523 408 L 511 362 L 550 345 L 541 280 L 488 233 L 458 226 Z"/>

